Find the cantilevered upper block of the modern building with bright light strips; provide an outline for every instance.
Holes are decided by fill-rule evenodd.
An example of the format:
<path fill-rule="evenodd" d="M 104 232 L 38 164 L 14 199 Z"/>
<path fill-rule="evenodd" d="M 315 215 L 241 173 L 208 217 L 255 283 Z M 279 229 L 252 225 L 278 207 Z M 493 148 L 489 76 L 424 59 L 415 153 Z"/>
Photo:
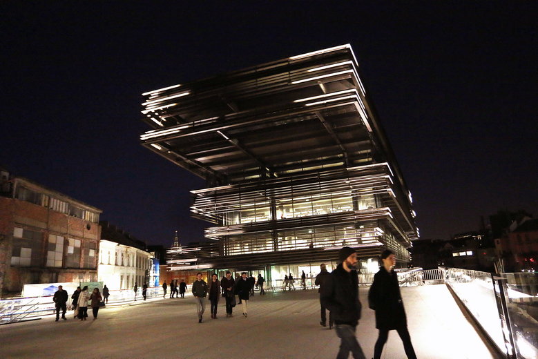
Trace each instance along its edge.
<path fill-rule="evenodd" d="M 386 140 L 357 68 L 345 45 L 149 91 L 142 144 L 221 183 L 372 163 Z"/>

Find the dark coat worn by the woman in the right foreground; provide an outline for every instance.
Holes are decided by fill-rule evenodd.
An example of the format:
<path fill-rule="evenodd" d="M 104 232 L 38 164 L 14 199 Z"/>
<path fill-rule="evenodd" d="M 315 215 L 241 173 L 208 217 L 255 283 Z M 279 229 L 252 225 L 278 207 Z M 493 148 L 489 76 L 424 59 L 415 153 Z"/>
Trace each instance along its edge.
<path fill-rule="evenodd" d="M 368 292 L 370 307 L 376 311 L 377 329 L 398 329 L 407 326 L 398 275 L 387 272 L 384 266 L 374 275 L 374 283 Z"/>

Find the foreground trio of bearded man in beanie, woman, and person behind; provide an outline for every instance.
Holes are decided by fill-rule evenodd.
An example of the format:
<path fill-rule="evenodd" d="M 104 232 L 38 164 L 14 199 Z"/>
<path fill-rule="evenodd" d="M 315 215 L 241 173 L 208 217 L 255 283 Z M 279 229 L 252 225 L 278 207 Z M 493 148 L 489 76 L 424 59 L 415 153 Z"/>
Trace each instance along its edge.
<path fill-rule="evenodd" d="M 369 308 L 376 311 L 376 329 L 378 338 L 374 346 L 374 359 L 381 359 L 383 347 L 387 342 L 389 331 L 396 330 L 400 336 L 408 359 L 416 359 L 416 354 L 407 331 L 407 319 L 394 271 L 396 257 L 390 250 L 381 254 L 383 266 L 374 275 L 374 282 L 368 293 Z M 357 255 L 354 249 L 343 247 L 338 252 L 338 266 L 329 273 L 325 264 L 316 276 L 316 285 L 320 286 L 321 321 L 327 324 L 326 309 L 329 310 L 329 329 L 333 325 L 340 338 L 337 359 L 347 358 L 349 352 L 355 359 L 365 359 L 363 349 L 355 336 L 358 320 L 361 319 L 362 305 L 358 299 L 358 277 L 356 272 Z"/>

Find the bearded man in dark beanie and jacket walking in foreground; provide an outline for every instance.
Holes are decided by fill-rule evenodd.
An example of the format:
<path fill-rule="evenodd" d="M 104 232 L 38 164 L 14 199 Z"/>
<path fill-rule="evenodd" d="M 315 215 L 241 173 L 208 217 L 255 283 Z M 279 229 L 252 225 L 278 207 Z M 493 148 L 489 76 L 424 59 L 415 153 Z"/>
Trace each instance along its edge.
<path fill-rule="evenodd" d="M 358 300 L 357 254 L 345 246 L 338 251 L 338 267 L 321 288 L 320 300 L 331 311 L 336 335 L 340 338 L 340 350 L 336 359 L 345 359 L 352 352 L 354 359 L 365 359 L 363 349 L 355 336 L 361 319 L 361 302 Z"/>

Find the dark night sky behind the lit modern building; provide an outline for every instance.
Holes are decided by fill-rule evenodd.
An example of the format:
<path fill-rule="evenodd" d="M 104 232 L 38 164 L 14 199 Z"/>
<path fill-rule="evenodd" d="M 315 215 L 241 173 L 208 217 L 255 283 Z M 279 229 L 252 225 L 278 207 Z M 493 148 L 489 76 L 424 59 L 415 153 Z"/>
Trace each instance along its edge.
<path fill-rule="evenodd" d="M 202 240 L 206 224 L 189 215 L 202 179 L 140 146 L 141 94 L 343 43 L 423 238 L 499 208 L 538 214 L 536 1 L 13 3 L 0 4 L 0 164 L 148 243 Z"/>

